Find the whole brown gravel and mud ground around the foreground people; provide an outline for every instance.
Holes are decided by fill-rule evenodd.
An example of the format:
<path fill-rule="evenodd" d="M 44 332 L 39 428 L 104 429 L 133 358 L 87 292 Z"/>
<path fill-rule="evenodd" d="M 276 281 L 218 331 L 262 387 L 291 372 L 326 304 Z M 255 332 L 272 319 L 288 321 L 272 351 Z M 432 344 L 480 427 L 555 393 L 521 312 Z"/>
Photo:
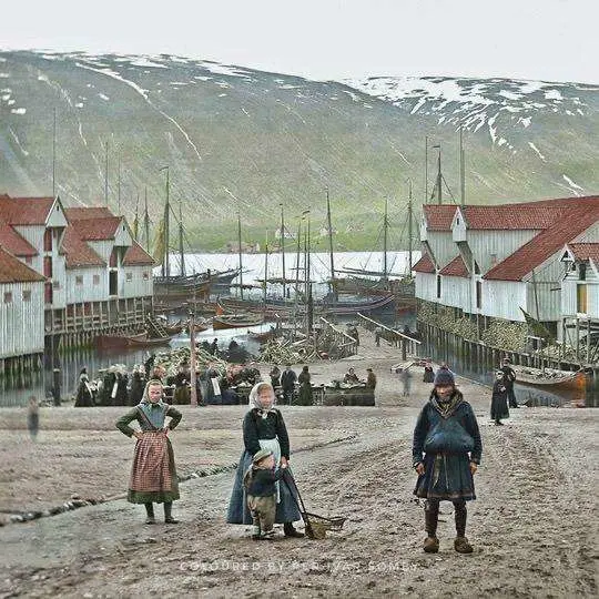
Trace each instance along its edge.
<path fill-rule="evenodd" d="M 363 377 L 373 367 L 376 407 L 282 407 L 308 510 L 347 517 L 319 541 L 281 532 L 255 542 L 248 527 L 225 524 L 244 406 L 182 407 L 172 434 L 179 474 L 222 471 L 182 483 L 182 522 L 155 527 L 122 498 L 133 455 L 133 440 L 114 429 L 123 408 L 44 408 L 35 444 L 24 409 L 0 410 L 4 521 L 73 495 L 109 499 L 1 527 L 0 597 L 597 597 L 599 412 L 521 408 L 495 427 L 489 389 L 459 379 L 484 444 L 468 506 L 475 552 L 454 551 L 453 506 L 441 504 L 440 551 L 427 555 L 410 446 L 430 385 L 415 367 L 403 397 L 389 369 L 397 351 L 375 348 L 363 331 L 361 342 L 355 359 L 311 372 L 319 384 L 349 365 Z"/>

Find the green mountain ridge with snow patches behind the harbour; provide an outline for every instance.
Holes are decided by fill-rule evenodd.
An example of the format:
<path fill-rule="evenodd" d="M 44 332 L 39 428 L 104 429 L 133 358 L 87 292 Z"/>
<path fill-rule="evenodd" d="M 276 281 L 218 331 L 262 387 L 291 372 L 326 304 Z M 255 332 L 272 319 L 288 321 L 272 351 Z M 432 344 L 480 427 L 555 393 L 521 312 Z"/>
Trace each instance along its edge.
<path fill-rule="evenodd" d="M 133 221 L 149 190 L 154 225 L 170 166 L 192 245 L 264 242 L 281 204 L 295 230 L 307 207 L 325 223 L 325 189 L 338 248 L 372 248 L 385 197 L 405 247 L 407 180 L 428 195 L 440 143 L 444 179 L 459 202 L 457 133 L 464 128 L 466 202 L 587 195 L 599 189 L 599 88 L 466 78 L 311 81 L 167 55 L 0 52 L 0 192 L 57 189 L 67 205 L 103 202 Z M 116 156 L 120 156 L 118 159 Z M 444 189 L 444 193 L 447 189 Z M 138 202 L 138 195 L 140 197 Z M 450 200 L 449 200 L 450 201 Z M 393 235 L 392 235 L 393 240 Z"/>

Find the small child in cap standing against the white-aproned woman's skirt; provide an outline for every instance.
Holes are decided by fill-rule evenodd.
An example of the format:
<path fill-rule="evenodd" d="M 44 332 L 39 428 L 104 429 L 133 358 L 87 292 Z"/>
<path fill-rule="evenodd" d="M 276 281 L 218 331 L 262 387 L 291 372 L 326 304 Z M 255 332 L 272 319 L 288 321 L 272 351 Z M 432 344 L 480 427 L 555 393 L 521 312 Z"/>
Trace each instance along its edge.
<path fill-rule="evenodd" d="M 272 539 L 276 512 L 275 483 L 281 479 L 287 467 L 285 464 L 275 471 L 275 460 L 270 449 L 261 449 L 254 454 L 252 466 L 244 476 L 247 508 L 254 520 L 252 538 L 254 540 Z"/>

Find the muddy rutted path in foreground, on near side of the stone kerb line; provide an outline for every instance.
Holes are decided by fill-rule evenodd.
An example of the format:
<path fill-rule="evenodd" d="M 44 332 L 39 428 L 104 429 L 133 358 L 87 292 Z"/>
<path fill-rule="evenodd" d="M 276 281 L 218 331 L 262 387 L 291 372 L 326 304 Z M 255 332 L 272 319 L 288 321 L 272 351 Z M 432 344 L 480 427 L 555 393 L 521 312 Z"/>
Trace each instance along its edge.
<path fill-rule="evenodd" d="M 417 409 L 323 409 L 290 413 L 290 428 L 325 424 L 332 436 L 355 437 L 296 444 L 292 465 L 308 509 L 347 517 L 341 532 L 252 541 L 248 527 L 224 524 L 233 473 L 220 474 L 182 485 L 176 527 L 144 526 L 143 510 L 124 500 L 3 527 L 2 596 L 596 596 L 590 410 L 560 410 L 556 422 L 555 410 L 522 409 L 499 428 L 477 409 L 485 455 L 468 514 L 475 554 L 454 551 L 451 505 L 443 504 L 435 556 L 422 552 L 423 509 L 412 495 Z M 575 441 L 580 427 L 595 435 Z"/>

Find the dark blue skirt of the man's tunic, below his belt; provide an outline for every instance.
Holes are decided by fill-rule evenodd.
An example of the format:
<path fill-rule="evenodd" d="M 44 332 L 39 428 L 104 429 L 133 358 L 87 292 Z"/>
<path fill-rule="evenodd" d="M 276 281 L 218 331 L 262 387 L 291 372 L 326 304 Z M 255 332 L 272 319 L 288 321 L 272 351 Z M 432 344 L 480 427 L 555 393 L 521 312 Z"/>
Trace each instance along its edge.
<path fill-rule="evenodd" d="M 448 501 L 476 499 L 468 454 L 427 454 L 424 465 L 414 495 Z"/>

